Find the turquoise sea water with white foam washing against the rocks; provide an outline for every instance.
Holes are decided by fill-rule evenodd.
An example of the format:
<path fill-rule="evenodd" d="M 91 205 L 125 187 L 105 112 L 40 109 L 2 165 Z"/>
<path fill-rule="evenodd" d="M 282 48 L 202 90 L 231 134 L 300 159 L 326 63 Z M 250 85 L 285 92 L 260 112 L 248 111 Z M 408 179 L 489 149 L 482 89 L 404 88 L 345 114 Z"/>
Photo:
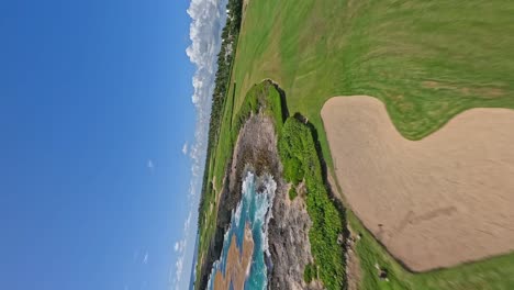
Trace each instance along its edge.
<path fill-rule="evenodd" d="M 225 271 L 225 260 L 233 235 L 236 236 L 237 247 L 239 249 L 242 248 L 246 223 L 249 223 L 250 225 L 255 246 L 252 257 L 252 266 L 245 282 L 245 289 L 266 289 L 267 268 L 265 255 L 269 256 L 267 225 L 271 217 L 268 210 L 272 204 L 277 183 L 270 176 L 265 176 L 262 179 L 262 192 L 256 191 L 256 177 L 254 174 L 248 172 L 243 180 L 242 200 L 239 204 L 237 204 L 235 212 L 232 213 L 231 225 L 223 242 L 222 255 L 212 267 L 208 289 L 213 289 L 212 280 L 214 280 L 216 271 Z"/>

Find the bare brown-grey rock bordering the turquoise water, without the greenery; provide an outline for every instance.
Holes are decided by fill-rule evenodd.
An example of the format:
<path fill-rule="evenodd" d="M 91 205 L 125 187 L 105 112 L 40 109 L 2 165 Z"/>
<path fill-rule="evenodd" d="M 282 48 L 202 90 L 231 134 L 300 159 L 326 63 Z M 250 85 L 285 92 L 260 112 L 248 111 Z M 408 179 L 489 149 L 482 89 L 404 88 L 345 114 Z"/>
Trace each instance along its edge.
<path fill-rule="evenodd" d="M 261 113 L 252 115 L 241 130 L 225 176 L 217 209 L 215 238 L 202 265 L 203 272 L 209 274 L 212 264 L 221 255 L 223 236 L 230 226 L 232 211 L 242 197 L 243 177 L 252 170 L 256 176 L 269 174 L 277 182 L 271 208 L 272 217 L 268 224 L 268 288 L 322 289 L 320 283 L 306 285 L 303 281 L 304 268 L 312 263 L 309 243 L 311 220 L 301 197 L 289 200 L 290 185 L 282 178 L 277 141 L 273 120 Z M 202 278 L 201 289 L 205 288 L 209 277 Z"/>

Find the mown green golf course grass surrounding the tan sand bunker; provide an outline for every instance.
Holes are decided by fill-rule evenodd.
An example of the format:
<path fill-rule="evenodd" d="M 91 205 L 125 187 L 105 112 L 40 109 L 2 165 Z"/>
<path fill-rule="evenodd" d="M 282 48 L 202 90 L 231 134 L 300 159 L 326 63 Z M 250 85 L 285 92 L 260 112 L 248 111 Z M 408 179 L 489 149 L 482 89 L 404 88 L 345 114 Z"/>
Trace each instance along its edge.
<path fill-rule="evenodd" d="M 252 85 L 275 79 L 290 111 L 319 130 L 332 167 L 320 118 L 332 96 L 381 99 L 413 140 L 469 108 L 514 108 L 513 12 L 505 1 L 250 1 L 233 71 L 237 86 L 228 96 L 235 93 L 237 111 Z M 506 275 L 514 255 L 412 275 L 351 213 L 348 219 L 364 233 L 357 244 L 364 289 L 514 289 Z M 390 282 L 377 279 L 377 261 L 387 265 Z"/>

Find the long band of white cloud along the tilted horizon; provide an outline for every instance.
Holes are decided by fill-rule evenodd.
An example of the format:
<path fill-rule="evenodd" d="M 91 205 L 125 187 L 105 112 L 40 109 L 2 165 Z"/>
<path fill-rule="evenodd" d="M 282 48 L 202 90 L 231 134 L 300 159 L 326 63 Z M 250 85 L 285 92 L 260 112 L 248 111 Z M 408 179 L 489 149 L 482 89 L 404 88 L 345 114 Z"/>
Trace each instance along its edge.
<path fill-rule="evenodd" d="M 192 232 L 191 222 L 193 211 L 198 210 L 199 189 L 201 188 L 203 167 L 205 161 L 209 119 L 211 114 L 212 93 L 217 70 L 216 56 L 221 47 L 221 33 L 226 21 L 227 0 L 191 0 L 188 14 L 191 16 L 189 37 L 191 45 L 186 49 L 191 63 L 197 67 L 192 78 L 194 89 L 192 102 L 197 111 L 197 125 L 193 144 L 185 144 L 183 154 L 189 154 L 192 161 L 192 179 L 189 185 L 189 213 L 183 224 L 183 237 L 175 243 L 175 252 L 179 254 L 175 263 L 175 289 L 186 289 L 189 277 L 182 279 L 183 269 L 193 263 L 193 249 L 188 248 L 188 241 Z M 195 224 L 194 224 L 195 225 Z M 187 255 L 187 260 L 186 259 Z M 188 275 L 188 274 L 185 274 Z M 183 281 L 181 283 L 181 281 Z"/>

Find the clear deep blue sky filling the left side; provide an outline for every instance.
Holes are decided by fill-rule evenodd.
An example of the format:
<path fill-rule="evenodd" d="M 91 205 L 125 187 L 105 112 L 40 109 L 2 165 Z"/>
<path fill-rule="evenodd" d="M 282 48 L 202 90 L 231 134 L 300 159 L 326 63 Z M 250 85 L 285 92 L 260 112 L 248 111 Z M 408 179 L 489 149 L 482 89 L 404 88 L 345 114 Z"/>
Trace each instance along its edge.
<path fill-rule="evenodd" d="M 189 5 L 0 2 L 0 289 L 177 283 L 208 115 Z"/>

